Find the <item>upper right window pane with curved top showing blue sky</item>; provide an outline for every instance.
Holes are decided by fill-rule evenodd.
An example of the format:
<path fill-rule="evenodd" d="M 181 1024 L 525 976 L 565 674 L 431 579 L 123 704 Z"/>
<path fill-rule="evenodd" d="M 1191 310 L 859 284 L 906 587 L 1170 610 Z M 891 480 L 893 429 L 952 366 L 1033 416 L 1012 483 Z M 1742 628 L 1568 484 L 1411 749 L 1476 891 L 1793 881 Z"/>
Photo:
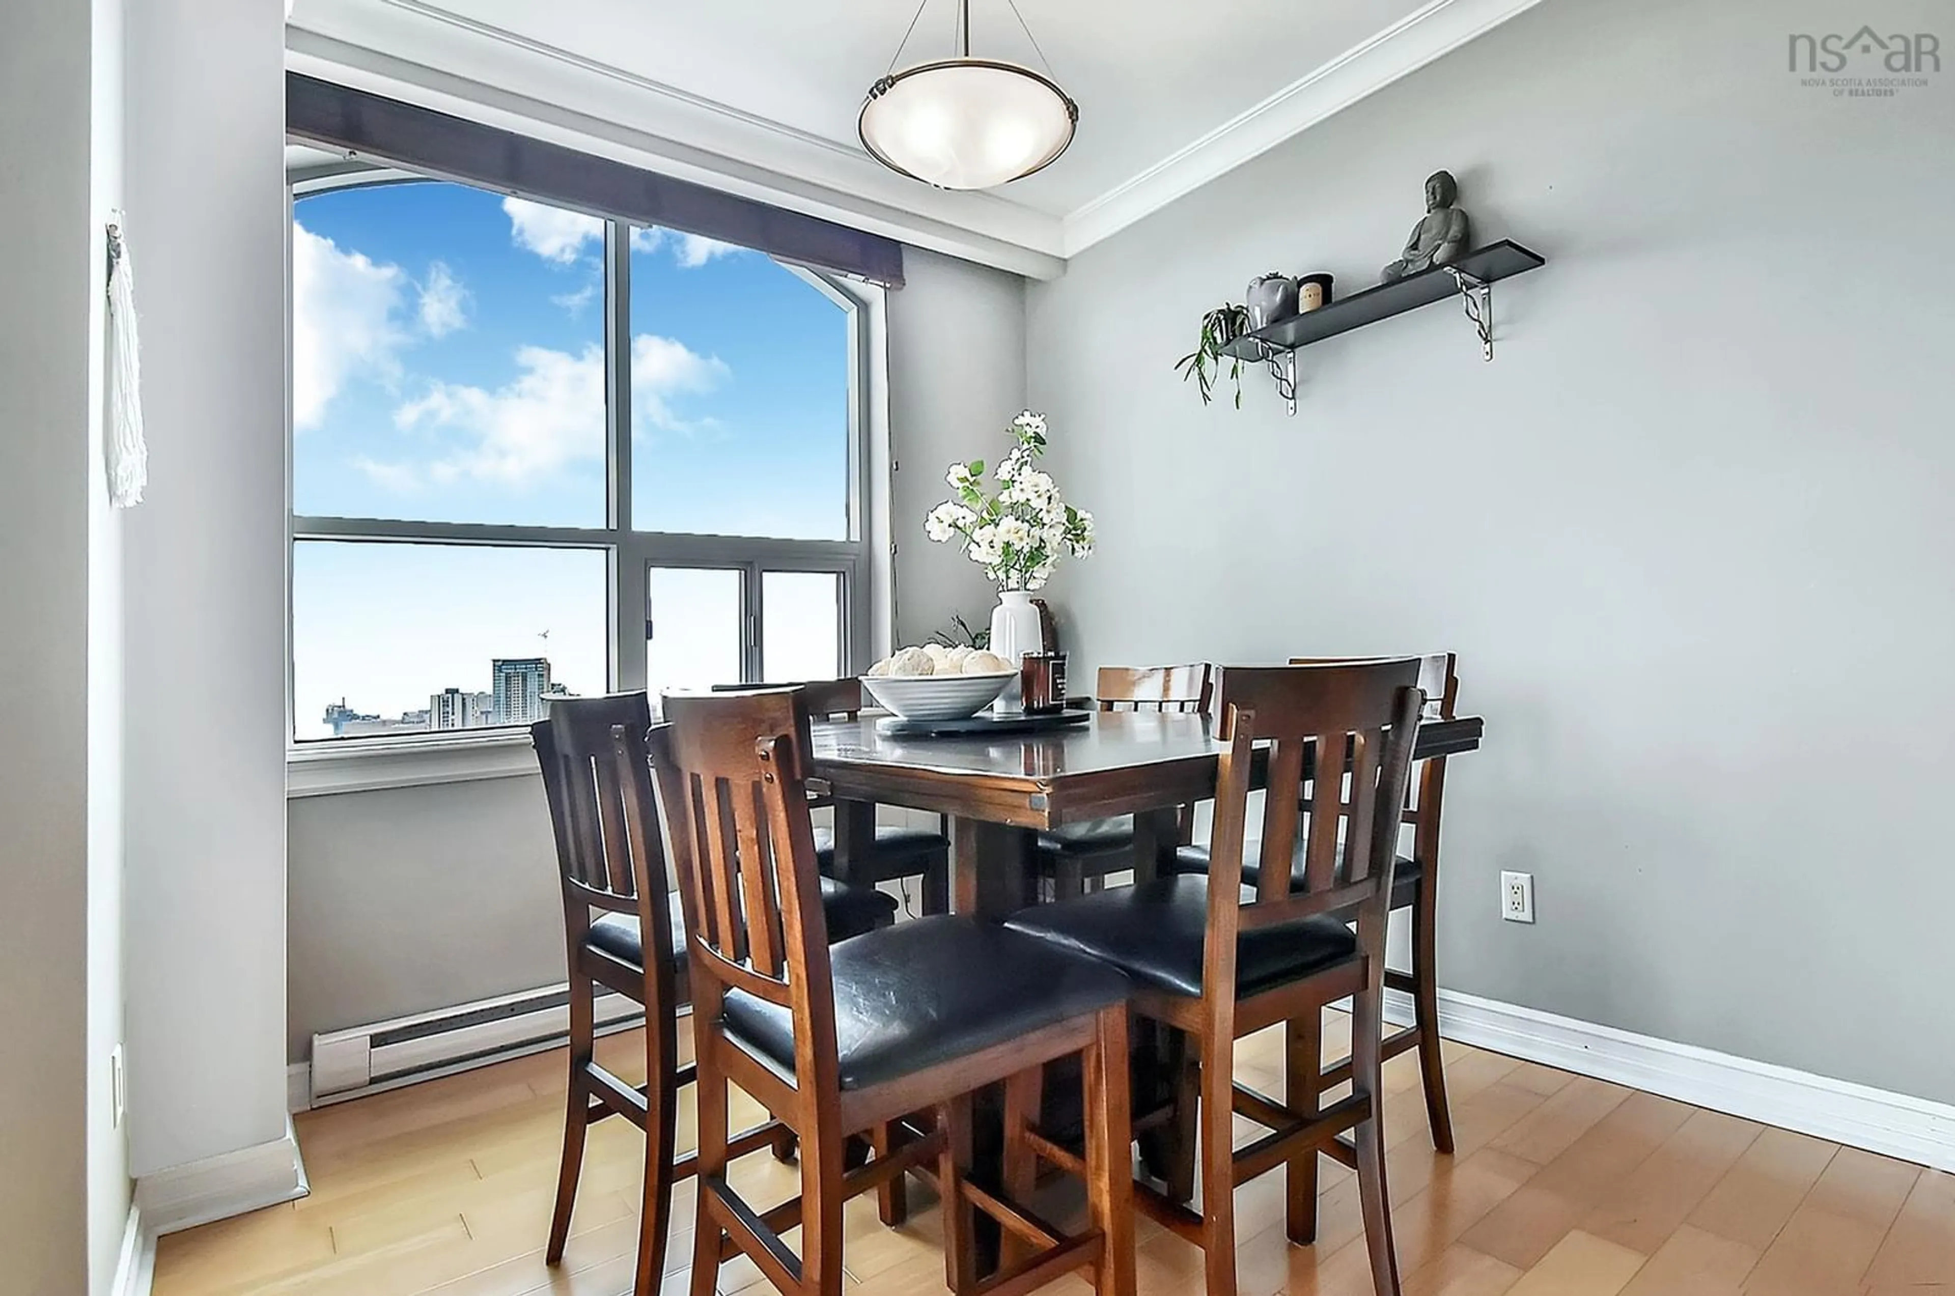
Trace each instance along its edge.
<path fill-rule="evenodd" d="M 631 233 L 631 524 L 848 538 L 850 315 L 696 235 Z"/>

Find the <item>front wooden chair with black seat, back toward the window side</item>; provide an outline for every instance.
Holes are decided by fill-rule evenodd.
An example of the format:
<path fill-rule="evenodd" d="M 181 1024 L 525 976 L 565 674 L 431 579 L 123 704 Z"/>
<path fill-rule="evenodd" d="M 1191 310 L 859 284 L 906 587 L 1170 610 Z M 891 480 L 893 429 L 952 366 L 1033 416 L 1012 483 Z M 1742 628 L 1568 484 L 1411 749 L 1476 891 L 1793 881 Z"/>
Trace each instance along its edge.
<path fill-rule="evenodd" d="M 692 1292 L 747 1255 L 780 1290 L 843 1290 L 843 1202 L 934 1163 L 944 1271 L 958 1296 L 1028 1292 L 1077 1269 L 1132 1296 L 1134 1220 L 1126 1093 L 1126 977 L 970 917 L 899 923 L 829 948 L 813 903 L 813 829 L 802 774 L 805 710 L 792 690 L 667 698 L 661 801 L 690 932 L 698 1050 L 700 1190 Z M 1022 1085 L 1048 1061 L 1085 1073 L 1091 1226 L 1062 1237 L 972 1169 L 972 1093 Z M 802 1194 L 760 1210 L 725 1179 L 727 1085 L 786 1122 Z M 934 1110 L 931 1130 L 899 1124 Z M 919 1122 L 921 1124 L 921 1122 Z M 848 1169 L 845 1142 L 888 1134 Z M 1011 1140 L 1021 1147 L 1022 1140 Z M 1013 1249 L 981 1286 L 976 1212 Z M 800 1255 L 782 1233 L 802 1230 Z M 1036 1251 L 1034 1251 L 1036 1249 Z M 1030 1253 L 1028 1253 L 1030 1251 Z"/>

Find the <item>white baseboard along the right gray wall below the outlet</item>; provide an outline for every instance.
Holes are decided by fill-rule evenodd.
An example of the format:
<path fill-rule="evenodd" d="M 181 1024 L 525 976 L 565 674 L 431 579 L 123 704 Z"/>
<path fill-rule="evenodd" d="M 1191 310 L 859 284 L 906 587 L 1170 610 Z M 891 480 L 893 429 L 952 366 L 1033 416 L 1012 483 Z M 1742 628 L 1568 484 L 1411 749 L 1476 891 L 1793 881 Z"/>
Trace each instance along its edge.
<path fill-rule="evenodd" d="M 1412 995 L 1386 991 L 1384 1016 L 1408 1024 Z M 1945 1102 L 1451 989 L 1439 991 L 1439 1034 L 1509 1058 L 1955 1173 L 1955 1106 Z"/>

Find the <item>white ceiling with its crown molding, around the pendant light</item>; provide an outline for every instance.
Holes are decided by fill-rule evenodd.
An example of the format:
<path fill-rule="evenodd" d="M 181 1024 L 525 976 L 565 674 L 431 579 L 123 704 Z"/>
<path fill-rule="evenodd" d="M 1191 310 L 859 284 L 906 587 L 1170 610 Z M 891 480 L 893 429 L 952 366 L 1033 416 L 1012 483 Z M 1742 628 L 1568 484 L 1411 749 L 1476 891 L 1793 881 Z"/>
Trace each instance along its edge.
<path fill-rule="evenodd" d="M 1529 4 L 1019 0 L 1079 102 L 1079 135 L 991 194 L 927 190 L 856 139 L 917 0 L 297 0 L 291 47 L 299 70 L 514 94 L 676 145 L 706 170 L 719 156 L 843 209 L 868 201 L 1065 256 Z M 954 16 L 954 0 L 927 0 L 901 63 L 952 53 Z M 1044 63 L 1007 0 L 972 0 L 972 49 Z"/>

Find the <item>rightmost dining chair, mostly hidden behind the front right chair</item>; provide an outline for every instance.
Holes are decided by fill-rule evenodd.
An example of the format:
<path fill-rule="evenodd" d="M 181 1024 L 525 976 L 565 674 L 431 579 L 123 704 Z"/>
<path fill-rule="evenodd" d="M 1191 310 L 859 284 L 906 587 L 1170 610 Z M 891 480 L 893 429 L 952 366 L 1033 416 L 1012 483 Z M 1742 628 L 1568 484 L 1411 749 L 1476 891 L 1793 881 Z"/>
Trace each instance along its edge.
<path fill-rule="evenodd" d="M 1363 657 L 1292 657 L 1292 667 L 1322 667 Z M 1453 719 L 1458 706 L 1458 657 L 1429 653 L 1419 661 L 1419 692 L 1425 694 L 1429 719 Z M 1412 958 L 1406 972 L 1388 968 L 1384 983 L 1412 995 L 1412 1024 L 1384 1038 L 1384 1059 L 1419 1050 L 1419 1077 L 1425 1089 L 1425 1124 L 1437 1151 L 1453 1151 L 1453 1110 L 1447 1104 L 1447 1073 L 1439 1054 L 1439 811 L 1445 801 L 1447 758 L 1431 756 L 1417 764 L 1404 821 L 1412 829 L 1412 854 L 1400 854 L 1392 870 L 1392 909 L 1412 911 Z M 1253 854 L 1253 852 L 1251 852 Z M 1181 872 L 1206 872 L 1208 850 L 1183 846 L 1175 852 Z M 1290 886 L 1304 874 L 1298 854 L 1290 866 Z M 1257 870 L 1243 866 L 1243 880 L 1255 886 Z M 1333 1089 L 1351 1079 L 1351 1059 L 1331 1063 L 1324 1087 Z M 1333 1155 L 1341 1155 L 1333 1151 Z"/>

